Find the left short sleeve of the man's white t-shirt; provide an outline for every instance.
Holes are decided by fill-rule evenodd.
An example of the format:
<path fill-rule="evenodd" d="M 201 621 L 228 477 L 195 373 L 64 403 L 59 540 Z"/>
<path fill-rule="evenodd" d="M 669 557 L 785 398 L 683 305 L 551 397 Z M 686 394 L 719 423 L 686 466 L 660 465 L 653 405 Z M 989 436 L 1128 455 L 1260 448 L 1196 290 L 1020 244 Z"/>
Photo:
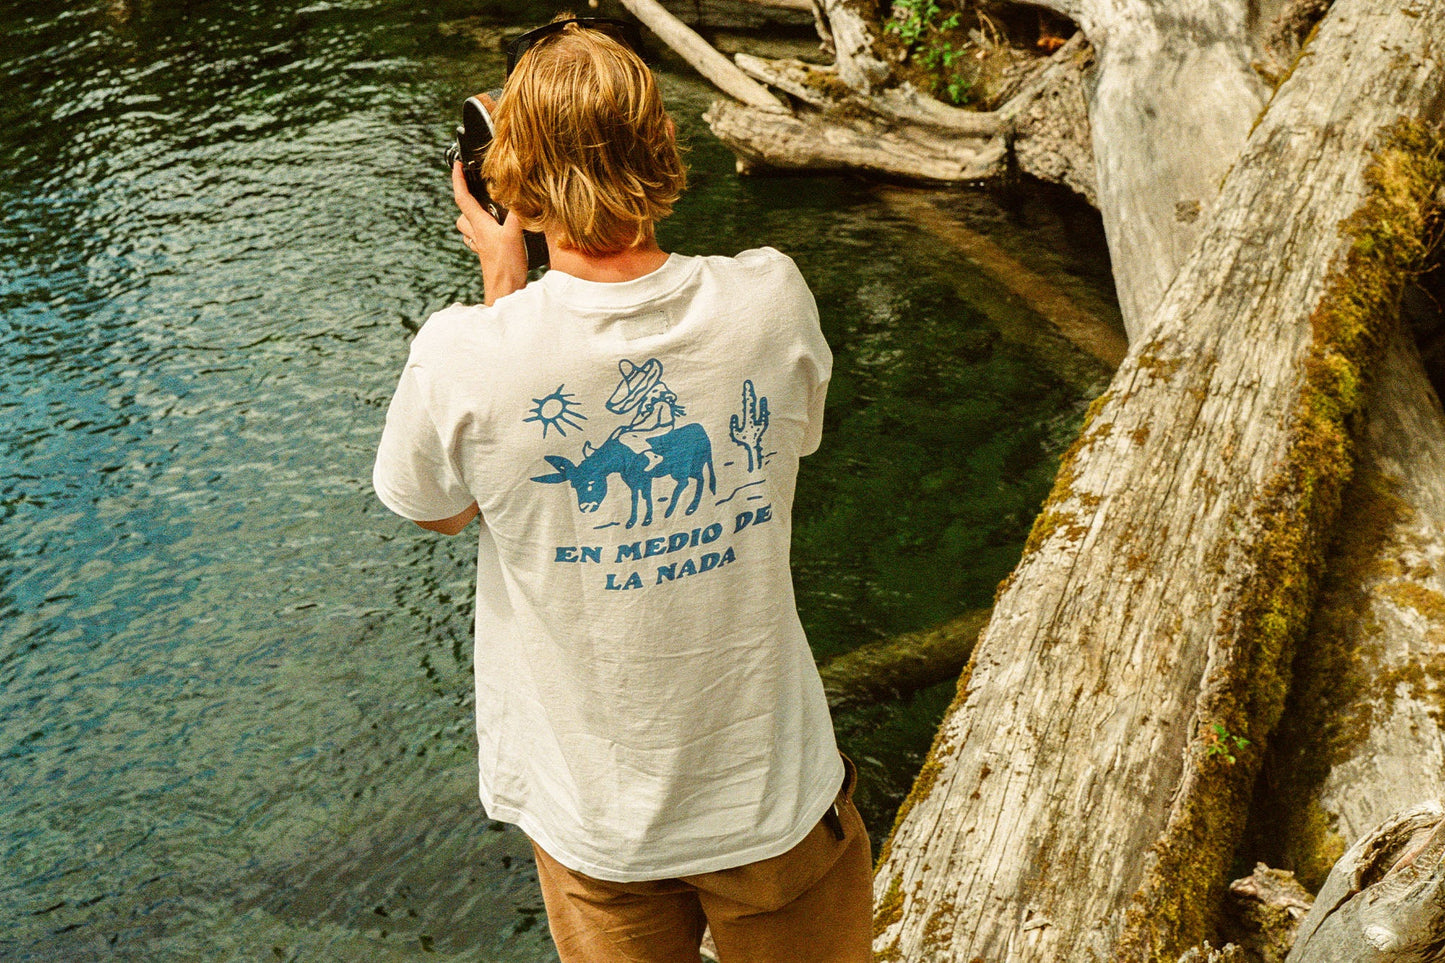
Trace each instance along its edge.
<path fill-rule="evenodd" d="M 386 508 L 413 522 L 451 518 L 475 500 L 426 405 L 426 377 L 416 364 L 402 372 L 386 411 L 371 487 Z"/>

